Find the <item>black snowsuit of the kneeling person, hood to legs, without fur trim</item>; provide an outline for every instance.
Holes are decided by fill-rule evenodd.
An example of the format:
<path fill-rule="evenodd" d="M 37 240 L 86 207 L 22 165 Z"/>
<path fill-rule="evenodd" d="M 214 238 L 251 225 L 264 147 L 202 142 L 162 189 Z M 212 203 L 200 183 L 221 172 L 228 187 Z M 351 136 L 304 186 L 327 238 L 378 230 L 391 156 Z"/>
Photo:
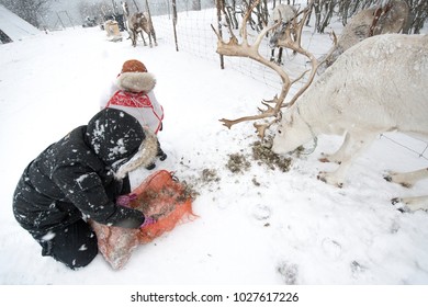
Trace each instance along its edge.
<path fill-rule="evenodd" d="M 43 255 L 71 269 L 85 266 L 98 253 L 88 218 L 125 228 L 144 223 L 139 211 L 115 204 L 131 186 L 127 177 L 117 180 L 113 173 L 138 152 L 144 139 L 137 120 L 105 109 L 25 168 L 13 195 L 13 213 L 40 242 Z"/>

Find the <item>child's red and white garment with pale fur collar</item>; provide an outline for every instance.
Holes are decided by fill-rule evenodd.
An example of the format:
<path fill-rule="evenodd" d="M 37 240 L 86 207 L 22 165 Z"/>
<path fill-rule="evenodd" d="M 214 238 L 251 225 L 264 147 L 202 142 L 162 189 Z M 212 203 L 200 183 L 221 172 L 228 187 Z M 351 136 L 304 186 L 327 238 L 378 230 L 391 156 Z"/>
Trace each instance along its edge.
<path fill-rule="evenodd" d="M 116 84 L 120 90 L 109 100 L 106 107 L 125 111 L 137 118 L 142 126 L 147 126 L 157 134 L 161 128 L 164 109 L 154 93 L 154 75 L 123 72 L 117 77 Z"/>

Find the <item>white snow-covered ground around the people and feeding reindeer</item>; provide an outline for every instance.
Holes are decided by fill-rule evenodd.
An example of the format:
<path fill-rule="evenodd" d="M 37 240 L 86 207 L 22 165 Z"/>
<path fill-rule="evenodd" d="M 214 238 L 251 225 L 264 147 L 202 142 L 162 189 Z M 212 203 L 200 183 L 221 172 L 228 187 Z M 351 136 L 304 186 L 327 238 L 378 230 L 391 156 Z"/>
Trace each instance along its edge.
<path fill-rule="evenodd" d="M 326 37 L 311 36 L 312 48 L 326 50 Z M 0 45 L 0 284 L 428 284 L 428 214 L 403 214 L 390 202 L 428 194 L 427 181 L 408 190 L 382 179 L 385 170 L 426 167 L 426 154 L 419 158 L 379 138 L 336 189 L 316 179 L 335 168 L 317 158 L 337 149 L 341 138 L 323 136 L 313 154 L 291 156 L 289 171 L 271 169 L 254 158 L 251 123 L 228 130 L 218 118 L 254 114 L 260 100 L 273 96 L 272 88 L 177 53 L 161 36 L 158 43 L 133 48 L 126 39 L 109 42 L 99 29 L 70 29 Z M 168 159 L 157 169 L 176 171 L 198 191 L 199 218 L 138 247 L 122 271 L 101 254 L 71 271 L 41 255 L 13 217 L 12 194 L 40 151 L 99 111 L 129 58 L 142 60 L 158 80 L 155 92 L 166 112 L 159 139 Z M 388 137 L 418 152 L 426 146 Z M 250 166 L 233 172 L 228 166 L 237 157 Z M 134 172 L 133 184 L 147 174 Z"/>

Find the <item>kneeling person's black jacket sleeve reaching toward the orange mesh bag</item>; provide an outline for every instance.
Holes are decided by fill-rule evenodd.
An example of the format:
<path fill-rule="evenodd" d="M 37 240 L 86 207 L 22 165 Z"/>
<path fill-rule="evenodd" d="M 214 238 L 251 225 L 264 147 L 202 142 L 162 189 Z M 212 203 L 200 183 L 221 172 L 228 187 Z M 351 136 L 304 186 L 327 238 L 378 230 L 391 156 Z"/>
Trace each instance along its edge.
<path fill-rule="evenodd" d="M 87 167 L 75 164 L 58 168 L 53 180 L 86 217 L 100 224 L 138 228 L 145 219 L 139 211 L 117 206 L 109 198 L 100 177 L 88 171 Z"/>

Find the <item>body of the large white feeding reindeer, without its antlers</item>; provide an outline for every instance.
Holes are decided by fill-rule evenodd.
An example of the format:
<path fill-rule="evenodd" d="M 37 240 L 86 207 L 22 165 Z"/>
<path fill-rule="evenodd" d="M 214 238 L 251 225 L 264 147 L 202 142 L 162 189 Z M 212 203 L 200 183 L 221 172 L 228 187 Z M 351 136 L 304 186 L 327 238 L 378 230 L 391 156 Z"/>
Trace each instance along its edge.
<path fill-rule="evenodd" d="M 339 163 L 318 178 L 342 186 L 352 161 L 379 134 L 397 130 L 428 137 L 428 35 L 385 34 L 345 52 L 288 109 L 272 151 L 286 154 L 322 134 L 346 134 L 340 149 L 322 161 Z M 428 178 L 428 169 L 390 173 L 405 186 Z M 397 198 L 428 209 L 428 195 Z"/>

